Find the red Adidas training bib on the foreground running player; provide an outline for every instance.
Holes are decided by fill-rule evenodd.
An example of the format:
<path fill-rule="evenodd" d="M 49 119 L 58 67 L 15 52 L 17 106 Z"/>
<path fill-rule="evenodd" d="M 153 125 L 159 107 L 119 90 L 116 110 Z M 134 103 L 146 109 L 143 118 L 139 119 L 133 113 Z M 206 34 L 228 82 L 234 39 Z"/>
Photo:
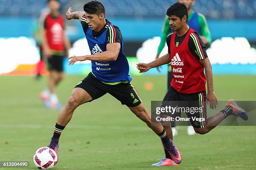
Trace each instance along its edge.
<path fill-rule="evenodd" d="M 189 50 L 188 42 L 192 29 L 189 29 L 186 37 L 178 47 L 175 45 L 174 32 L 170 40 L 170 59 L 172 65 L 171 85 L 177 92 L 190 94 L 204 91 L 205 73 L 204 67 L 199 60 L 195 60 L 195 55 Z"/>

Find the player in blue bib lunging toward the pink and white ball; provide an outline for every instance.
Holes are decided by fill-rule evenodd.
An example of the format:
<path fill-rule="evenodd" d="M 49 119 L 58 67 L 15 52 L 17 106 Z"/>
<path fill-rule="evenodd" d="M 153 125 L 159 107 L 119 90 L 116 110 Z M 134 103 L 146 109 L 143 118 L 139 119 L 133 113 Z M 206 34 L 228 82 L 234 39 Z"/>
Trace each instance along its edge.
<path fill-rule="evenodd" d="M 49 147 L 57 152 L 59 137 L 79 105 L 109 93 L 123 105 L 127 105 L 137 117 L 159 135 L 164 148 L 172 157 L 166 166 L 177 166 L 181 163 L 181 153 L 168 138 L 160 122 L 152 121 L 158 124 L 154 126 L 151 124 L 151 114 L 141 102 L 135 87 L 131 85 L 132 78 L 128 75 L 129 65 L 123 53 L 122 34 L 117 26 L 105 19 L 104 6 L 94 0 L 84 5 L 84 12 L 72 13 L 70 7 L 66 18 L 80 20 L 92 54 L 69 57 L 69 64 L 91 60 L 92 72 L 75 86 L 67 104 L 61 109 Z"/>

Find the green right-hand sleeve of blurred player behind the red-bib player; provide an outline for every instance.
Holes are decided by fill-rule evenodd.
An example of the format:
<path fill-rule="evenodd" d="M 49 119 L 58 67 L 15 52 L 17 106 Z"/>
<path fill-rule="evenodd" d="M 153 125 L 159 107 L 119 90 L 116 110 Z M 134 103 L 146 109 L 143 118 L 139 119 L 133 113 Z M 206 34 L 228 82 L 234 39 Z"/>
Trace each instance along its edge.
<path fill-rule="evenodd" d="M 205 16 L 198 13 L 198 21 L 199 21 L 199 25 L 200 25 L 200 35 L 205 36 L 205 38 L 208 40 L 207 45 L 210 45 L 212 42 L 212 37 L 211 37 L 211 33 L 210 33 L 210 30 L 207 25 Z"/>

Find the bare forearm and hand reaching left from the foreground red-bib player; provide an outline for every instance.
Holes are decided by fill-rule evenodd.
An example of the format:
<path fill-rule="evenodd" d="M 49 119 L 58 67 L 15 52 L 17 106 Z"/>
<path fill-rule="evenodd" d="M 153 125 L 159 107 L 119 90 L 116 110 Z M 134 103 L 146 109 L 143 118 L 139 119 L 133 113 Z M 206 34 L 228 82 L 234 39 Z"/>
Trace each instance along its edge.
<path fill-rule="evenodd" d="M 148 64 L 146 63 L 137 64 L 137 69 L 140 70 L 140 72 L 147 72 L 151 68 L 159 67 L 161 65 L 168 64 L 169 62 L 170 62 L 170 54 L 166 54 L 160 57 L 159 59 L 154 60 Z"/>

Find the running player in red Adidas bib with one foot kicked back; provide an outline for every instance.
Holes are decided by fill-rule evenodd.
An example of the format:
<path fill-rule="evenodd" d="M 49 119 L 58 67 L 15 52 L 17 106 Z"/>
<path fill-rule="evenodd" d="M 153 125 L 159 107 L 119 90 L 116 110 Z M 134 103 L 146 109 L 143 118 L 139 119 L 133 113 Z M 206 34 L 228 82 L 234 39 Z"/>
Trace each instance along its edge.
<path fill-rule="evenodd" d="M 188 11 L 186 5 L 175 3 L 169 7 L 166 15 L 169 18 L 169 25 L 174 31 L 174 33 L 168 35 L 166 40 L 168 53 L 148 64 L 139 63 L 137 65 L 140 72 L 146 72 L 151 68 L 171 62 L 173 79 L 162 106 L 166 105 L 166 101 L 197 101 L 190 102 L 190 104 L 194 103 L 192 105 L 195 107 L 195 103 L 197 103 L 196 107 L 202 107 L 203 109 L 196 113 L 186 112 L 186 114 L 190 117 L 195 132 L 199 134 L 210 132 L 229 115 L 236 115 L 243 120 L 248 120 L 246 111 L 239 107 L 234 100 L 229 100 L 223 110 L 207 119 L 206 100 L 209 102 L 211 109 L 217 107 L 218 100 L 213 90 L 212 67 L 205 51 L 205 45 L 197 32 L 187 25 Z M 193 120 L 192 116 L 201 118 L 202 121 Z M 172 139 L 172 129 L 169 122 L 168 125 L 165 123 L 163 126 L 169 138 Z M 155 165 L 164 166 L 165 162 L 170 159 L 172 158 L 166 152 L 166 158 Z"/>

